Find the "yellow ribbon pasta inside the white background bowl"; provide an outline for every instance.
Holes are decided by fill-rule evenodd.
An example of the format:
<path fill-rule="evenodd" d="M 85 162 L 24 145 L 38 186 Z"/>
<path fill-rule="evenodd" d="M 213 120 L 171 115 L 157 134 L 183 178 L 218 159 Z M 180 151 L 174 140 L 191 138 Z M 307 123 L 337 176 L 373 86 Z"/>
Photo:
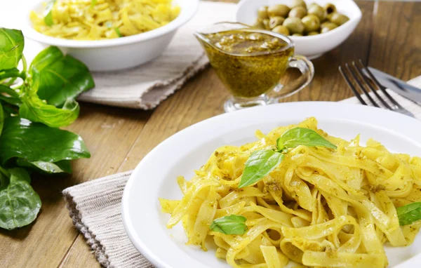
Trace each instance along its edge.
<path fill-rule="evenodd" d="M 77 40 L 113 39 L 168 24 L 180 13 L 180 7 L 173 5 L 172 1 L 51 0 L 44 13 L 32 11 L 30 19 L 37 32 L 48 36 Z M 53 6 L 48 12 L 50 5 Z"/>

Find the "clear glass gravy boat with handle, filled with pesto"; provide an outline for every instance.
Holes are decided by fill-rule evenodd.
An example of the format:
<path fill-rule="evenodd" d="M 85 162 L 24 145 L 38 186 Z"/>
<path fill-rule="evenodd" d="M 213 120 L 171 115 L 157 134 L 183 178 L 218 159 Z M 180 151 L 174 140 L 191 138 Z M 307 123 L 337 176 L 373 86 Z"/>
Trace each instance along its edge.
<path fill-rule="evenodd" d="M 285 44 L 274 51 L 236 54 L 222 50 L 219 43 L 211 40 L 213 34 L 224 32 L 266 34 Z M 281 98 L 298 93 L 313 79 L 312 62 L 304 56 L 294 55 L 293 41 L 281 34 L 237 22 L 219 22 L 194 35 L 205 49 L 210 65 L 231 93 L 224 105 L 225 112 L 279 102 Z M 301 76 L 297 81 L 283 85 L 280 80 L 288 68 L 298 68 Z"/>

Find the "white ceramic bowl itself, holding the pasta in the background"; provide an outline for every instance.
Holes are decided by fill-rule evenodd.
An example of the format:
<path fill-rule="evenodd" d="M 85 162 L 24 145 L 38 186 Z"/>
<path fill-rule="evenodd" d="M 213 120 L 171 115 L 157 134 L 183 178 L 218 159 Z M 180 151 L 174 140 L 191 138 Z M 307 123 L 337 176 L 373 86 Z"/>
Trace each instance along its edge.
<path fill-rule="evenodd" d="M 119 39 L 79 41 L 46 36 L 36 32 L 32 27 L 29 13 L 25 14 L 22 32 L 34 41 L 48 46 L 58 46 L 63 52 L 84 62 L 91 71 L 126 69 L 159 57 L 173 39 L 177 29 L 194 16 L 199 6 L 199 0 L 174 0 L 174 3 L 180 5 L 181 12 L 168 25 Z M 39 3 L 32 6 L 29 12 L 42 11 L 42 9 L 43 6 Z"/>

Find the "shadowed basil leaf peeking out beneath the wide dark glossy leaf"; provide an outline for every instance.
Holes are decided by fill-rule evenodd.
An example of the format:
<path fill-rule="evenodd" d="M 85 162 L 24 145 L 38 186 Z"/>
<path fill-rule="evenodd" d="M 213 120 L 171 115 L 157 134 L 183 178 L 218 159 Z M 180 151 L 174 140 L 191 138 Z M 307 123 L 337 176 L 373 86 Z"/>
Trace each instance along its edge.
<path fill-rule="evenodd" d="M 44 174 L 60 174 L 68 173 L 72 174 L 72 165 L 69 160 L 62 160 L 55 163 L 46 161 L 26 161 L 25 159 L 16 160 L 18 166 L 30 168 L 38 173 Z"/>

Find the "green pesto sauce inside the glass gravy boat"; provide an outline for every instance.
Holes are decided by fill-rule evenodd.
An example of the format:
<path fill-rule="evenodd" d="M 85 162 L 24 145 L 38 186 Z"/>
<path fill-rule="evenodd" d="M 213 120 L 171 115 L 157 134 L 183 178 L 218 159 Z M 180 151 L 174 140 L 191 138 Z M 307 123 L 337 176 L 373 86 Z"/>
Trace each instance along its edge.
<path fill-rule="evenodd" d="M 293 46 L 271 34 L 234 29 L 203 34 L 203 48 L 227 89 L 236 98 L 255 98 L 271 91 L 286 72 Z"/>

